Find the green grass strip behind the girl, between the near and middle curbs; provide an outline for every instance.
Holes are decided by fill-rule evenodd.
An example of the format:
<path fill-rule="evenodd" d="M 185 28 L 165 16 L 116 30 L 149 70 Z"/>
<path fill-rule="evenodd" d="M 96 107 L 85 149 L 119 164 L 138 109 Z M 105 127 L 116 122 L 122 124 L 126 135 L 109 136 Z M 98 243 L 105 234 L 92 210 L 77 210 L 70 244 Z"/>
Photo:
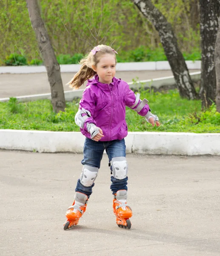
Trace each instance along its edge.
<path fill-rule="evenodd" d="M 220 132 L 220 113 L 213 104 L 201 111 L 200 100 L 181 99 L 177 90 L 154 93 L 140 90 L 141 99 L 149 100 L 152 113 L 160 119 L 160 127 L 152 127 L 131 109 L 126 109 L 129 131 L 172 131 L 194 133 Z M 15 98 L 0 102 L 0 129 L 80 131 L 74 122 L 79 100 L 66 103 L 66 112 L 53 113 L 49 100 L 18 103 Z"/>

